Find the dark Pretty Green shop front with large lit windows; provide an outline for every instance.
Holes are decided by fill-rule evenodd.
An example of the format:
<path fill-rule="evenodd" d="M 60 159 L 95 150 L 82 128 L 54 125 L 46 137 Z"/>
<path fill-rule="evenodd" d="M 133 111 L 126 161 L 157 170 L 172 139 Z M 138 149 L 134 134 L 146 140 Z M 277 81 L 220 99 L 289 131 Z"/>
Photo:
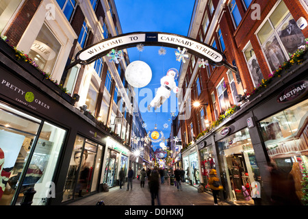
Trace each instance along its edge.
<path fill-rule="evenodd" d="M 105 132 L 29 71 L 36 69 L 0 57 L 0 205 L 20 205 L 31 191 L 32 205 L 97 192 Z"/>

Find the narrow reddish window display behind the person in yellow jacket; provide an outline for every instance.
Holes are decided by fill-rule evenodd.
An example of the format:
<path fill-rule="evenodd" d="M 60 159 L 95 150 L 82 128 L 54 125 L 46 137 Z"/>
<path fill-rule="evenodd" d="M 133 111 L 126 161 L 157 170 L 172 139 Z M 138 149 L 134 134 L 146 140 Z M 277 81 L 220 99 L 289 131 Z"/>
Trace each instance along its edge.
<path fill-rule="evenodd" d="M 211 169 L 216 169 L 215 159 L 213 156 L 213 146 L 207 146 L 205 149 L 202 149 L 200 151 L 200 157 L 203 183 L 205 183 L 205 189 L 210 190 L 208 185 L 209 172 L 211 172 Z"/>

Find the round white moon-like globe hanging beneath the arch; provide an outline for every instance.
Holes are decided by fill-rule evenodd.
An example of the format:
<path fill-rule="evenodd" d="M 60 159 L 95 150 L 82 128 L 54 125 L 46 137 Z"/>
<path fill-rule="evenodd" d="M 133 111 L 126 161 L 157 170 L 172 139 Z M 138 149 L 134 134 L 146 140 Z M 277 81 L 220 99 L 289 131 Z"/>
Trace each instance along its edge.
<path fill-rule="evenodd" d="M 152 79 L 152 70 L 142 61 L 131 62 L 125 70 L 125 79 L 135 88 L 143 88 Z"/>

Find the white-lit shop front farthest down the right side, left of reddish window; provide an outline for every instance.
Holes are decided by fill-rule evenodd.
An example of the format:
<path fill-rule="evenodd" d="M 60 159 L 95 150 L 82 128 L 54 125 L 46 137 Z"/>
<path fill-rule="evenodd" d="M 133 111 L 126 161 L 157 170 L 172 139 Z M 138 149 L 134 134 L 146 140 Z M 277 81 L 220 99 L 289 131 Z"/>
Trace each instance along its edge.
<path fill-rule="evenodd" d="M 183 170 L 185 170 L 185 183 L 198 187 L 201 183 L 200 179 L 200 165 L 198 162 L 198 153 L 196 144 L 188 148 L 183 153 Z"/>

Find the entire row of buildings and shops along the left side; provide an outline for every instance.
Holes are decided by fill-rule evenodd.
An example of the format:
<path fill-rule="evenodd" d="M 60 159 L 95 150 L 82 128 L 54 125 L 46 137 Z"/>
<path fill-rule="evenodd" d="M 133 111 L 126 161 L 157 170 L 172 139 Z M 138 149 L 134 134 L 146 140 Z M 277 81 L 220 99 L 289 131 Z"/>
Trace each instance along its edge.
<path fill-rule="evenodd" d="M 0 205 L 65 205 L 118 185 L 131 155 L 127 51 L 70 66 L 81 49 L 122 34 L 114 1 L 3 1 Z M 137 110 L 138 111 L 138 110 Z M 149 162 L 149 160 L 148 160 Z"/>

